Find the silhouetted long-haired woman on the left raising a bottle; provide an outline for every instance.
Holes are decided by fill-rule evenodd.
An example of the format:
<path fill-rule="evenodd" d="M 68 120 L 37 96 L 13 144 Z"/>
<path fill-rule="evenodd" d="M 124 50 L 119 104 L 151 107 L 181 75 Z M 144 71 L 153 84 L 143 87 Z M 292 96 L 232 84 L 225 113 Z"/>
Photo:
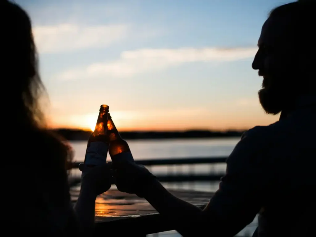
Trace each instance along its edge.
<path fill-rule="evenodd" d="M 67 179 L 71 149 L 65 139 L 46 128 L 40 102 L 47 95 L 38 71 L 30 18 L 17 4 L 6 0 L 0 0 L 0 15 L 1 82 L 7 90 L 1 94 L 3 136 L 5 148 L 10 150 L 3 153 L 0 172 L 1 222 L 14 226 L 10 228 L 12 235 L 90 233 L 98 191 L 111 186 L 108 168 L 99 167 L 82 178 L 74 209 Z M 103 179 L 101 187 L 96 179 Z"/>

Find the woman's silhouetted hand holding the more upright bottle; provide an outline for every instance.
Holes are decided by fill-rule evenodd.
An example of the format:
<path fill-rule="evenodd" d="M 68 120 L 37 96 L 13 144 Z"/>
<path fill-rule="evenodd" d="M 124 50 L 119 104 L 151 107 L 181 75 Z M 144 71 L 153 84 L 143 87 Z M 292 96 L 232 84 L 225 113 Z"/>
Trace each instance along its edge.
<path fill-rule="evenodd" d="M 81 175 L 81 190 L 89 190 L 100 195 L 108 191 L 112 185 L 111 165 L 105 164 L 95 167 L 87 167 L 84 163 L 79 164 Z"/>

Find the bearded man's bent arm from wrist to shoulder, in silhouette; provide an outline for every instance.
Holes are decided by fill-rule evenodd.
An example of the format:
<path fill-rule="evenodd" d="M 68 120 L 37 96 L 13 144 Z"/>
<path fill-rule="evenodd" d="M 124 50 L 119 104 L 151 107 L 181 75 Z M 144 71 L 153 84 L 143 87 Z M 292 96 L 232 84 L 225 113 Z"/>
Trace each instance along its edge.
<path fill-rule="evenodd" d="M 147 186 L 146 200 L 183 236 L 234 236 L 252 222 L 262 205 L 267 177 L 264 141 L 254 128 L 243 135 L 227 160 L 226 175 L 204 210 L 168 192 L 157 180 Z M 261 134 L 262 135 L 262 134 Z"/>

